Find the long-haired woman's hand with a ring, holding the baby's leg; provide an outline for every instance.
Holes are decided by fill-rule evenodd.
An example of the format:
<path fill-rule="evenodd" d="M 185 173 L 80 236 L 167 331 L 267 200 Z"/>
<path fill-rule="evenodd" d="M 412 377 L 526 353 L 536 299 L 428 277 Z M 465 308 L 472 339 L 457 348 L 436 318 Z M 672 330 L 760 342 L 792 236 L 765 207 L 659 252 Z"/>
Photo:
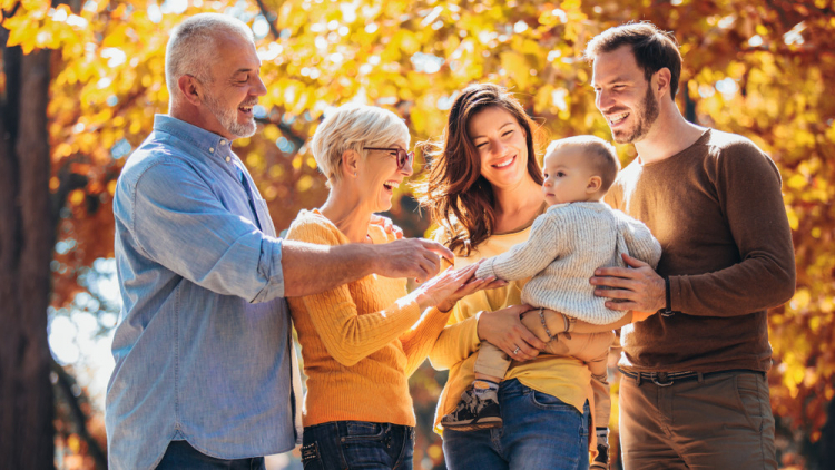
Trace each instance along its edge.
<path fill-rule="evenodd" d="M 513 305 L 494 312 L 482 312 L 479 316 L 479 339 L 489 341 L 514 361 L 530 361 L 539 355 L 546 343 L 519 320 L 519 315 L 529 310 L 530 305 Z"/>

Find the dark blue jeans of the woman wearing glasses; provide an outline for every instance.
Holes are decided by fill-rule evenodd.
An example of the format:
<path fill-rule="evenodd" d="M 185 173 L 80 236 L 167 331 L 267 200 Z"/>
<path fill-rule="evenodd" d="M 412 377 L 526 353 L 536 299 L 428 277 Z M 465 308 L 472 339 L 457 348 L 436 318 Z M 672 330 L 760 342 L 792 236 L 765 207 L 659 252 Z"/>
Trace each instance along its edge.
<path fill-rule="evenodd" d="M 304 429 L 305 470 L 412 470 L 414 428 L 370 421 L 333 421 Z"/>

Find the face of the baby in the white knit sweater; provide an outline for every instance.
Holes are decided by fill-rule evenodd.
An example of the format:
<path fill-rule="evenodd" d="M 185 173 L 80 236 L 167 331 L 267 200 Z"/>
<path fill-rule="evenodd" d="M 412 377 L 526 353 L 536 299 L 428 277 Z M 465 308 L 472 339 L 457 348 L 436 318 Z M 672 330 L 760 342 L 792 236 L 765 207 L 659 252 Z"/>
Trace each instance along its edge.
<path fill-rule="evenodd" d="M 556 150 L 546 155 L 542 167 L 542 194 L 549 206 L 554 204 L 599 200 L 599 185 L 589 156 L 577 149 Z"/>

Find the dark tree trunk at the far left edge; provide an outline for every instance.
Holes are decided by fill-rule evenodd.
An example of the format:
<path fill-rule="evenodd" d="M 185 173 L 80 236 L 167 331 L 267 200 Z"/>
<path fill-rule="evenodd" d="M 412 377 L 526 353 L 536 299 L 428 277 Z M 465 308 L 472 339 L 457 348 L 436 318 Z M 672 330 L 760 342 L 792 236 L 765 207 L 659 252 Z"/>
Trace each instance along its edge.
<path fill-rule="evenodd" d="M 8 31 L 0 31 L 6 43 Z M 50 210 L 49 50 L 3 48 L 0 116 L 0 468 L 55 468 L 47 307 Z"/>

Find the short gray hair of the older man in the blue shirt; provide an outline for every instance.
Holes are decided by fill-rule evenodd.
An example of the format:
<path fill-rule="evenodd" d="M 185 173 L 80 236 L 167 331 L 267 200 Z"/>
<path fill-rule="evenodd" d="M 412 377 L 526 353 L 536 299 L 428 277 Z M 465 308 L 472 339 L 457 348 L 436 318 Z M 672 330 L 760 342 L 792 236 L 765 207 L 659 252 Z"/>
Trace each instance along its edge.
<path fill-rule="evenodd" d="M 232 35 L 254 42 L 245 22 L 220 13 L 195 14 L 174 28 L 165 51 L 165 82 L 171 99 L 179 95 L 177 80 L 184 75 L 212 84 L 210 59 L 218 40 Z"/>

